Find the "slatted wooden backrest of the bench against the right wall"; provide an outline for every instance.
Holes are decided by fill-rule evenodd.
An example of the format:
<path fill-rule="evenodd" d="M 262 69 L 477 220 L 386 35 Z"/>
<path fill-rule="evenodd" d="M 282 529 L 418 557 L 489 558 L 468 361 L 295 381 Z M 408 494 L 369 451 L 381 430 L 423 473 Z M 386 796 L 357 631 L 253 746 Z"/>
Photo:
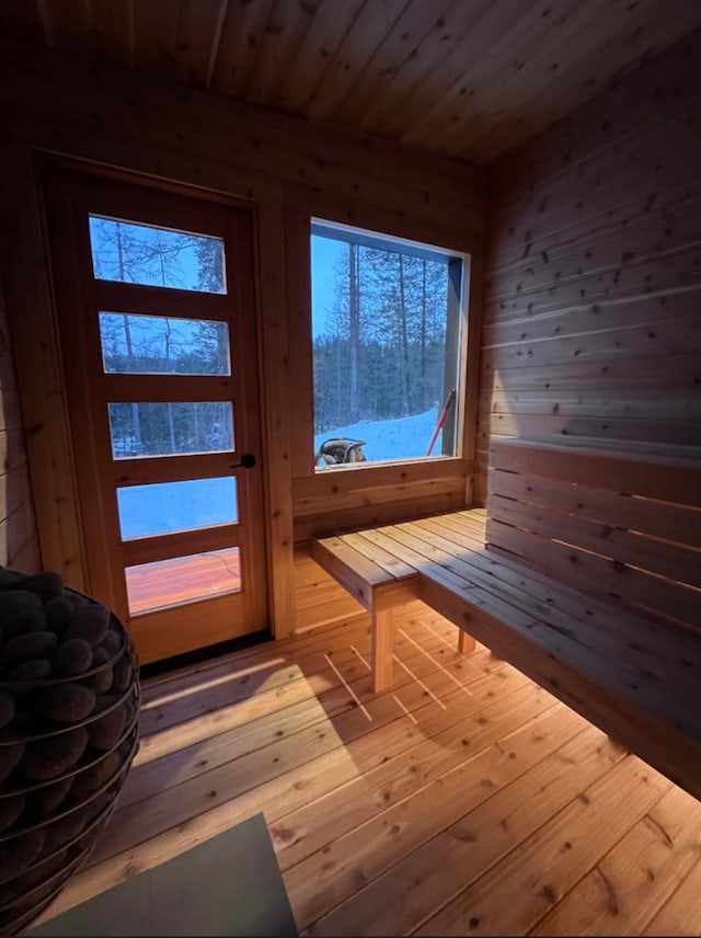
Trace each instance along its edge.
<path fill-rule="evenodd" d="M 701 459 L 679 458 L 677 447 L 674 456 L 665 447 L 657 447 L 657 454 L 654 449 L 643 456 L 596 444 L 570 449 L 494 438 L 487 547 L 509 551 L 555 580 L 602 593 L 607 602 L 698 627 Z M 519 478 L 526 483 L 522 495 L 515 485 Z M 541 501 L 543 492 L 554 496 L 547 495 L 544 506 L 533 503 L 528 491 L 540 483 Z M 564 504 L 558 488 L 565 490 Z M 624 506 L 625 497 L 632 507 Z M 666 518 L 667 508 L 670 524 L 662 540 L 655 519 Z M 631 514 L 633 522 L 627 525 L 624 517 Z"/>

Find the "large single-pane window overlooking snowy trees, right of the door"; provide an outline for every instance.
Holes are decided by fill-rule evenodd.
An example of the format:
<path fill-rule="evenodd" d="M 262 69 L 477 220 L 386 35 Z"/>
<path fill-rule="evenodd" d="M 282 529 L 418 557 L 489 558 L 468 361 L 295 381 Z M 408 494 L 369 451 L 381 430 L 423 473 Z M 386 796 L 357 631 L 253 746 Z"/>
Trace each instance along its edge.
<path fill-rule="evenodd" d="M 457 454 L 464 261 L 312 222 L 318 470 Z"/>

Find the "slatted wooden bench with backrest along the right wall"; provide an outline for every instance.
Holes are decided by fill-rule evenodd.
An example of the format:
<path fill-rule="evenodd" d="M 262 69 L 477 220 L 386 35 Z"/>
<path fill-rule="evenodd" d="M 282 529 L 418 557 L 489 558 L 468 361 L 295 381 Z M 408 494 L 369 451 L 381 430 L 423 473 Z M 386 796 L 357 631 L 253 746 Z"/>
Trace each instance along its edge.
<path fill-rule="evenodd" d="M 313 556 L 374 613 L 376 689 L 397 603 L 378 616 L 368 591 L 394 590 L 701 799 L 700 470 L 669 447 L 495 439 L 486 534 L 472 510 L 323 538 Z"/>

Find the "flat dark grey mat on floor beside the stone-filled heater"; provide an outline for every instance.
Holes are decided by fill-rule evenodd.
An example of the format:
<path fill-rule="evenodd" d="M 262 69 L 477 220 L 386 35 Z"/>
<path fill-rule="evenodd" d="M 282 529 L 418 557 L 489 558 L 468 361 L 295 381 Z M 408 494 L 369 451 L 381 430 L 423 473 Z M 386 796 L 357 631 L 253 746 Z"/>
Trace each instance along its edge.
<path fill-rule="evenodd" d="M 263 814 L 26 933 L 297 936 Z"/>

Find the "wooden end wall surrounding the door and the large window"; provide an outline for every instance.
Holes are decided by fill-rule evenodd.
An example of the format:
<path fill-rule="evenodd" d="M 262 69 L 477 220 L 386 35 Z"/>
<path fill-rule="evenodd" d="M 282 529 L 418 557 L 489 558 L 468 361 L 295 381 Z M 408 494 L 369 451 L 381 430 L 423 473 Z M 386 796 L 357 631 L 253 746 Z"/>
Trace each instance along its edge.
<path fill-rule="evenodd" d="M 291 631 L 299 618 L 294 544 L 318 533 L 332 505 L 338 506 L 340 523 L 352 525 L 466 504 L 473 441 L 468 458 L 450 464 L 343 473 L 342 493 L 332 491 L 341 473 L 332 484 L 314 476 L 311 450 L 309 458 L 298 457 L 312 438 L 310 323 L 302 321 L 309 297 L 298 273 L 309 263 L 310 216 L 463 251 L 479 264 L 486 209 L 482 171 L 107 66 L 81 70 L 59 55 L 1 43 L 0 116 L 7 131 L 0 141 L 0 263 L 32 427 L 27 447 L 47 568 L 61 570 L 79 588 L 89 585 L 41 237 L 37 150 L 251 199 L 258 232 L 265 524 L 278 634 Z M 30 336 L 41 336 L 38 348 Z M 476 377 L 475 371 L 473 396 Z M 302 564 L 297 573 L 304 583 L 309 570 Z"/>

